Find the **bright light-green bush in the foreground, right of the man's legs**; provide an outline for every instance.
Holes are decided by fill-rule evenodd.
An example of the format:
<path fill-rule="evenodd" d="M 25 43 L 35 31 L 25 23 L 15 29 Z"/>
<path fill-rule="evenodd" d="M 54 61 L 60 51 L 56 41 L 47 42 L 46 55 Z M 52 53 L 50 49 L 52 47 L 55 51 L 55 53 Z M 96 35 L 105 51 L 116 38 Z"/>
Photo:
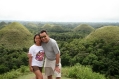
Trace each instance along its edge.
<path fill-rule="evenodd" d="M 80 64 L 76 64 L 72 67 L 64 67 L 62 74 L 71 79 L 106 79 L 103 74 L 95 73 L 90 67 Z"/>

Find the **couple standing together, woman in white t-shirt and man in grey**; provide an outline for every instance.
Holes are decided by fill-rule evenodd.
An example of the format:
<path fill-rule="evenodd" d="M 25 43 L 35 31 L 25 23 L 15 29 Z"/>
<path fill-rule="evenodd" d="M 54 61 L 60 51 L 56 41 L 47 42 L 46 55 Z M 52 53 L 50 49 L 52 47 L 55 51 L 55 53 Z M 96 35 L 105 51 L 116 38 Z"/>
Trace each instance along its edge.
<path fill-rule="evenodd" d="M 29 48 L 28 57 L 30 71 L 34 72 L 36 79 L 43 79 L 43 64 L 47 79 L 53 79 L 54 74 L 56 79 L 61 78 L 60 50 L 57 42 L 48 36 L 46 30 L 34 36 L 34 45 Z"/>

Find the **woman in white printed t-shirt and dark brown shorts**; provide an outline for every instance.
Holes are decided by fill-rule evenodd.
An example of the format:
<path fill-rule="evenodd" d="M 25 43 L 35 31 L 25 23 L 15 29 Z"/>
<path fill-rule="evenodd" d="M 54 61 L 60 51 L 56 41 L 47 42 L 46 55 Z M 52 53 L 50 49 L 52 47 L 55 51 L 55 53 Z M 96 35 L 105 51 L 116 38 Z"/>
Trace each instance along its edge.
<path fill-rule="evenodd" d="M 42 67 L 44 61 L 44 50 L 41 46 L 41 39 L 39 34 L 34 36 L 34 44 L 29 48 L 29 68 L 34 72 L 36 79 L 43 79 Z"/>

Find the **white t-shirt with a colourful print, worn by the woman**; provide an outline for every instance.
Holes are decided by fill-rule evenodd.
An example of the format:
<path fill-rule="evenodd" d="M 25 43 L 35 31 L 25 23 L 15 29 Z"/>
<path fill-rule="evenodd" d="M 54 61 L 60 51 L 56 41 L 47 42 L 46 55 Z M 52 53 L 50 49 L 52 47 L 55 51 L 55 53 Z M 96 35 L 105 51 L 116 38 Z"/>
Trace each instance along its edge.
<path fill-rule="evenodd" d="M 32 55 L 32 66 L 43 67 L 44 49 L 42 46 L 32 45 L 29 48 L 29 54 Z M 40 56 L 43 56 L 43 59 Z"/>

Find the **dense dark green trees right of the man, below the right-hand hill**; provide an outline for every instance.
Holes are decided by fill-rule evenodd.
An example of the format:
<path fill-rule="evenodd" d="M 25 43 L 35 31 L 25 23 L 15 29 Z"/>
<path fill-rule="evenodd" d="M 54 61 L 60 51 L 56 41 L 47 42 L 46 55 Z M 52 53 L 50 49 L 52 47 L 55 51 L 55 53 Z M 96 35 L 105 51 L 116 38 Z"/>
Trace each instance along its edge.
<path fill-rule="evenodd" d="M 95 42 L 79 42 L 74 40 L 65 43 L 62 51 L 62 64 L 73 66 L 79 62 L 91 65 L 93 71 L 116 76 L 119 74 L 119 43 L 106 43 L 103 40 Z"/>

